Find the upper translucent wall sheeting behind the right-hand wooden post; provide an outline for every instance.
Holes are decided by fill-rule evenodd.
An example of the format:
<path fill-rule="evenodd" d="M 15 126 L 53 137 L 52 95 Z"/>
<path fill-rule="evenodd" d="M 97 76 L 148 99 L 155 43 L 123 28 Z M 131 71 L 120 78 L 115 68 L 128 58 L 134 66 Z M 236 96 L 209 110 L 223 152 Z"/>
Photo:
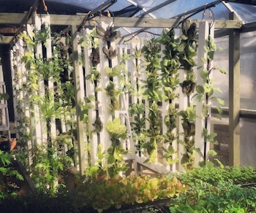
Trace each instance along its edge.
<path fill-rule="evenodd" d="M 228 71 L 228 36 L 215 39 L 217 51 L 214 58 L 215 66 Z M 256 32 L 241 34 L 241 109 L 256 109 Z M 228 107 L 228 74 L 223 75 L 214 71 L 214 83 L 221 88 L 222 93 L 216 93 L 226 101 Z"/>

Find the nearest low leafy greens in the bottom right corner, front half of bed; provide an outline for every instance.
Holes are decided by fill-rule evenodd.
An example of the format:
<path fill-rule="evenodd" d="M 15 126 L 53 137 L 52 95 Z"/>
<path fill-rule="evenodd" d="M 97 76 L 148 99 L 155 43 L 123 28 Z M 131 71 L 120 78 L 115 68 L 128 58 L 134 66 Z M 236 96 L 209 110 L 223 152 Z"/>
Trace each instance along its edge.
<path fill-rule="evenodd" d="M 201 183 L 174 198 L 171 212 L 255 212 L 255 188 L 244 188 L 230 182 L 216 187 Z"/>

